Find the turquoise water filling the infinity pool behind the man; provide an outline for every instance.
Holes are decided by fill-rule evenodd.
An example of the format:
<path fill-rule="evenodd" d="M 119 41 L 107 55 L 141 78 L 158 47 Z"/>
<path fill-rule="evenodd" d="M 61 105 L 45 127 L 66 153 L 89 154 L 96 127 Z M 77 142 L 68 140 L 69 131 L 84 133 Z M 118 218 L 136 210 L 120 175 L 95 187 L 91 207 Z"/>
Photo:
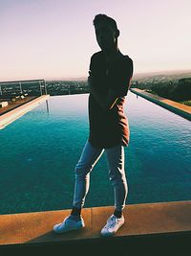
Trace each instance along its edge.
<path fill-rule="evenodd" d="M 88 96 L 53 96 L 0 130 L 0 214 L 68 209 L 89 132 Z M 190 121 L 128 92 L 127 203 L 191 199 Z M 85 207 L 113 205 L 105 153 Z"/>

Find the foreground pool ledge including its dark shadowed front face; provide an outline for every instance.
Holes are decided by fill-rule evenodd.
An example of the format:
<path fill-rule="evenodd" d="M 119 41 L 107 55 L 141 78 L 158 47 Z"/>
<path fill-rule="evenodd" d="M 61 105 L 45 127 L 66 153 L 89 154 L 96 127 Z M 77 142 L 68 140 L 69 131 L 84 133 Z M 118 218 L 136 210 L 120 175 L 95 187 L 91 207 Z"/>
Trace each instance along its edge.
<path fill-rule="evenodd" d="M 22 252 L 28 255 L 29 251 L 36 253 L 62 246 L 64 248 L 72 246 L 75 249 L 76 246 L 83 247 L 84 244 L 95 249 L 98 249 L 97 244 L 102 244 L 105 248 L 109 246 L 107 250 L 113 246 L 115 250 L 115 244 L 117 249 L 119 249 L 117 244 L 121 244 L 120 249 L 124 248 L 124 244 L 129 244 L 134 251 L 136 249 L 133 248 L 134 245 L 139 244 L 142 249 L 149 252 L 152 241 L 153 245 L 167 242 L 169 245 L 176 242 L 174 248 L 176 251 L 180 248 L 180 255 L 184 255 L 182 249 L 187 249 L 191 235 L 191 201 L 126 205 L 124 210 L 126 222 L 118 230 L 117 235 L 113 238 L 101 238 L 100 230 L 113 210 L 112 206 L 84 208 L 82 216 L 86 227 L 59 235 L 53 233 L 53 224 L 63 221 L 71 210 L 1 215 L 0 252 L 17 250 L 19 255 Z M 183 243 L 183 247 L 180 247 L 180 242 Z"/>

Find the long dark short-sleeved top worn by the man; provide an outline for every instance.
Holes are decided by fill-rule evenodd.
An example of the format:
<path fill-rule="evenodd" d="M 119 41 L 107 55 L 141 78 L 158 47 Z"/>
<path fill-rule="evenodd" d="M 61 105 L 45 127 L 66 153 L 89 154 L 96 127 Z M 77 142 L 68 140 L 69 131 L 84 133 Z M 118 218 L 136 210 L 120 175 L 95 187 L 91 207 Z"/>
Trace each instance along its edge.
<path fill-rule="evenodd" d="M 105 54 L 100 51 L 94 54 L 90 63 L 90 74 L 95 86 L 104 95 L 111 88 L 117 92 L 117 102 L 112 109 L 104 109 L 89 95 L 89 142 L 93 147 L 107 149 L 118 143 L 127 147 L 130 130 L 128 119 L 124 115 L 125 96 L 133 76 L 133 60 L 121 55 L 112 62 L 106 61 Z"/>

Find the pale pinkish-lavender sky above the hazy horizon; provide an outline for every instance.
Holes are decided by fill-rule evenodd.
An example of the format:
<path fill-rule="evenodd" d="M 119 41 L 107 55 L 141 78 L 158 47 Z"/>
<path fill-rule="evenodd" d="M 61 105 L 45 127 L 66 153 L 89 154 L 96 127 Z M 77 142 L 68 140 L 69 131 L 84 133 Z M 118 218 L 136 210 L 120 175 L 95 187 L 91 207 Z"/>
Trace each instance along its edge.
<path fill-rule="evenodd" d="M 93 19 L 117 21 L 134 74 L 191 69 L 190 0 L 0 0 L 0 81 L 88 77 Z"/>

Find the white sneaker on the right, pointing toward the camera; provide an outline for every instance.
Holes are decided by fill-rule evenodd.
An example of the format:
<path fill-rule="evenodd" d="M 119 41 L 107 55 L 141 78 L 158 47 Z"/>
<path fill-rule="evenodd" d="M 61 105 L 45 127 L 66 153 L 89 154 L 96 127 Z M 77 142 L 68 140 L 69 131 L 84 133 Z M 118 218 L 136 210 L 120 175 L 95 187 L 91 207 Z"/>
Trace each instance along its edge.
<path fill-rule="evenodd" d="M 106 225 L 101 229 L 102 237 L 110 237 L 117 233 L 117 230 L 121 225 L 124 224 L 124 217 L 117 218 L 115 215 L 112 215 L 108 220 Z"/>

